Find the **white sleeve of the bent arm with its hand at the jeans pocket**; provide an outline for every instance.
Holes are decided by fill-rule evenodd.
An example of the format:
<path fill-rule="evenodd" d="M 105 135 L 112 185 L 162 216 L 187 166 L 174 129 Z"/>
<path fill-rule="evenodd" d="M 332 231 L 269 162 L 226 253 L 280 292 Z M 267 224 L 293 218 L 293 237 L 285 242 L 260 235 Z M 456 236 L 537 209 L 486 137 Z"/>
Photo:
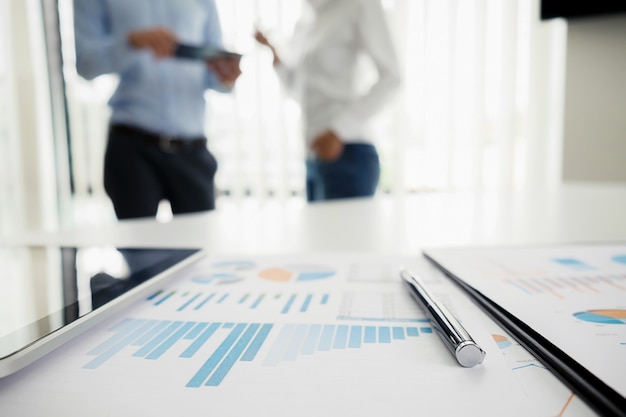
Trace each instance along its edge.
<path fill-rule="evenodd" d="M 357 31 L 363 52 L 370 57 L 377 72 L 377 81 L 370 89 L 345 107 L 330 128 L 340 138 L 359 131 L 388 102 L 400 86 L 400 68 L 394 43 L 380 0 L 360 0 Z"/>

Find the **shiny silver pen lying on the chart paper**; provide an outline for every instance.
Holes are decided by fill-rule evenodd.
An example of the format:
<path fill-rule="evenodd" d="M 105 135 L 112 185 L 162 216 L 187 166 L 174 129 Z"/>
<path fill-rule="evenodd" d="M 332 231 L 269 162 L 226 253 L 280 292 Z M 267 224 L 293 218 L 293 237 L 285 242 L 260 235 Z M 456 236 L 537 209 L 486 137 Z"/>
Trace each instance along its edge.
<path fill-rule="evenodd" d="M 461 366 L 471 368 L 482 363 L 486 352 L 478 346 L 467 330 L 442 303 L 437 302 L 426 291 L 424 285 L 415 275 L 406 269 L 400 270 L 400 277 L 407 285 L 409 292 L 419 306 L 426 312 L 435 331 L 452 352 Z"/>

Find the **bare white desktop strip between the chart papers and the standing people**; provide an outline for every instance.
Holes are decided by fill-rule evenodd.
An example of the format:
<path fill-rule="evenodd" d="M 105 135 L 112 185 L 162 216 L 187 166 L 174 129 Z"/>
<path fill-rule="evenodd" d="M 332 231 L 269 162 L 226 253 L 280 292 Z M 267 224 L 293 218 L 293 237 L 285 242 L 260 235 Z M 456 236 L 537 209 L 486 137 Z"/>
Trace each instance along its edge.
<path fill-rule="evenodd" d="M 209 253 L 377 252 L 626 239 L 626 184 L 423 193 L 337 202 L 222 202 L 168 223 L 130 220 L 6 236 L 6 243 L 202 247 Z"/>

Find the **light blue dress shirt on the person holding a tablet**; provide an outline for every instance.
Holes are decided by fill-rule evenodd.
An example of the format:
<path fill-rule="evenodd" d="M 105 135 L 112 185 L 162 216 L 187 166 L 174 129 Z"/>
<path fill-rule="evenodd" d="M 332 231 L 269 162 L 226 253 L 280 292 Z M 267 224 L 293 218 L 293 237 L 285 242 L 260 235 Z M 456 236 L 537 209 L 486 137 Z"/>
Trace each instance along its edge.
<path fill-rule="evenodd" d="M 133 49 L 130 31 L 167 27 L 182 43 L 223 47 L 213 0 L 74 0 L 76 68 L 119 75 L 111 122 L 179 137 L 204 135 L 206 89 L 227 91 L 201 61 Z"/>

